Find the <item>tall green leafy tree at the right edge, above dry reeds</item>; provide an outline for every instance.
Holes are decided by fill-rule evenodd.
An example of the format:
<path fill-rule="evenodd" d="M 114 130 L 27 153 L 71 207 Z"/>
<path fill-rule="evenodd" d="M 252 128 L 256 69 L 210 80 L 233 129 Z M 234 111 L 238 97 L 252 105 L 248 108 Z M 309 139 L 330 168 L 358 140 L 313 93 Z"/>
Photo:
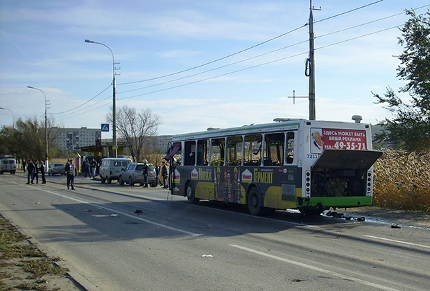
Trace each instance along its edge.
<path fill-rule="evenodd" d="M 406 81 L 399 92 L 408 93 L 411 100 L 406 103 L 387 88 L 384 96 L 372 93 L 377 103 L 386 105 L 393 118 L 381 124 L 384 130 L 377 134 L 379 141 L 388 141 L 408 152 L 430 151 L 430 13 L 416 15 L 406 10 L 411 18 L 400 28 L 399 44 L 404 51 L 397 58 L 401 61 L 397 77 Z"/>

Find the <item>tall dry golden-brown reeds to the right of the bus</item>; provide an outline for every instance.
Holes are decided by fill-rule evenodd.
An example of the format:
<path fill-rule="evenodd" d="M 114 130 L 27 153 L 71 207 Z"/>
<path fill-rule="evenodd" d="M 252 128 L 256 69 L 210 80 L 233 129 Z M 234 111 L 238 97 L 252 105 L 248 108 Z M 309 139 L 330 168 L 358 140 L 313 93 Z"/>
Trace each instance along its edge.
<path fill-rule="evenodd" d="M 386 150 L 374 165 L 373 205 L 430 211 L 430 154 Z"/>

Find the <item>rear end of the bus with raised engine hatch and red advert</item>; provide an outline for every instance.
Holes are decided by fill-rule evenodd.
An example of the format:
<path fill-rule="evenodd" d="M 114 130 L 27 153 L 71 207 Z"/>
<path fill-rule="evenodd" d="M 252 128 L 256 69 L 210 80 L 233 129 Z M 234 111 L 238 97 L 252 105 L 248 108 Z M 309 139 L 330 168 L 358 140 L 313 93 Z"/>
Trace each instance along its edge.
<path fill-rule="evenodd" d="M 304 121 L 300 135 L 302 213 L 372 204 L 372 165 L 382 153 L 372 150 L 370 125 Z"/>

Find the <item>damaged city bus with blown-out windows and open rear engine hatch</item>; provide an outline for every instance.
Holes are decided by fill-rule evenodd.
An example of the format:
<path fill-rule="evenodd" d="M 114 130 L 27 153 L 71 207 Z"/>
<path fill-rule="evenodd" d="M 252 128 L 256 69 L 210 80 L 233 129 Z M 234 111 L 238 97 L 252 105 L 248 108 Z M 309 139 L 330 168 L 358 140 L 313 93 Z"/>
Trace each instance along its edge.
<path fill-rule="evenodd" d="M 370 205 L 372 165 L 382 153 L 372 150 L 371 127 L 360 120 L 276 118 L 178 134 L 165 157 L 169 191 L 191 203 L 245 204 L 252 215 Z"/>

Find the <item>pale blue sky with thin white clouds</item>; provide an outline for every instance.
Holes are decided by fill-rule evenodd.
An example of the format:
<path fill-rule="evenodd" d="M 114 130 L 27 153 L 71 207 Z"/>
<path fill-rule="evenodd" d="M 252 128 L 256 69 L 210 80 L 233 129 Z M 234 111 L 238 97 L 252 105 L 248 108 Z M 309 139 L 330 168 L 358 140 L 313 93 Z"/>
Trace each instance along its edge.
<path fill-rule="evenodd" d="M 317 119 L 360 114 L 375 124 L 390 117 L 371 91 L 404 84 L 396 77 L 402 47 L 393 27 L 407 20 L 405 8 L 430 1 L 385 0 L 342 14 L 373 2 L 313 0 L 321 6 L 313 11 Z M 27 88 L 37 87 L 56 125 L 99 128 L 112 112 L 112 54 L 85 43 L 91 39 L 120 63 L 117 108 L 151 109 L 162 118 L 159 134 L 308 118 L 308 100 L 288 98 L 293 90 L 308 94 L 308 21 L 305 0 L 0 0 L 0 107 L 15 119 L 44 122 L 44 96 Z M 11 124 L 11 112 L 0 110 L 0 126 Z"/>

